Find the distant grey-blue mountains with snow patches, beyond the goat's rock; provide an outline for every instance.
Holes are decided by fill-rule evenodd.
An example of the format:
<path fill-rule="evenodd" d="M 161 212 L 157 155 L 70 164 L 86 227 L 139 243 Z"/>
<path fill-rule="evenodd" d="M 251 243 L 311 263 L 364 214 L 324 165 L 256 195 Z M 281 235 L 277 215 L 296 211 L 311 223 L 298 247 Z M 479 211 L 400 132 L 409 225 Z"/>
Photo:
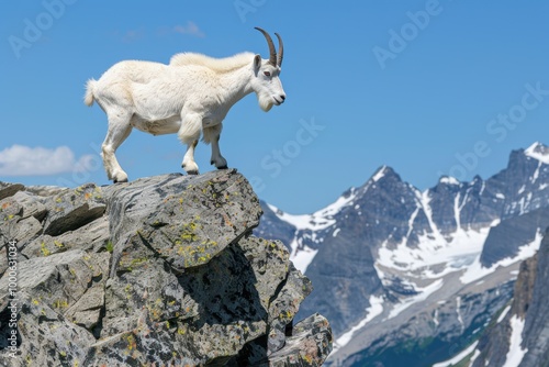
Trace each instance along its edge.
<path fill-rule="evenodd" d="M 384 166 L 313 214 L 262 205 L 255 233 L 287 240 L 315 283 L 302 312 L 332 322 L 328 364 L 428 366 L 469 346 L 513 297 L 549 225 L 549 148 L 515 151 L 485 180 L 442 177 L 421 191 Z"/>

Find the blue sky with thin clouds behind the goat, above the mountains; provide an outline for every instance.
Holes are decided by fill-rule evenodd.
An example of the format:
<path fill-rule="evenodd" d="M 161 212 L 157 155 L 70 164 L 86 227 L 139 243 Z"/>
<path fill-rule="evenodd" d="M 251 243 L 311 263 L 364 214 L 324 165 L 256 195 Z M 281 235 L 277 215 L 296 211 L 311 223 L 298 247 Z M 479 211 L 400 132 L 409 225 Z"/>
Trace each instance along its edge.
<path fill-rule="evenodd" d="M 0 180 L 108 184 L 107 118 L 88 78 L 123 59 L 268 56 L 284 41 L 287 101 L 237 103 L 221 140 L 261 199 L 309 213 L 380 166 L 419 189 L 440 175 L 503 169 L 549 144 L 549 3 L 544 1 L 9 1 L 0 4 Z M 182 171 L 176 135 L 134 130 L 117 152 L 130 179 Z M 210 166 L 200 144 L 197 163 Z"/>

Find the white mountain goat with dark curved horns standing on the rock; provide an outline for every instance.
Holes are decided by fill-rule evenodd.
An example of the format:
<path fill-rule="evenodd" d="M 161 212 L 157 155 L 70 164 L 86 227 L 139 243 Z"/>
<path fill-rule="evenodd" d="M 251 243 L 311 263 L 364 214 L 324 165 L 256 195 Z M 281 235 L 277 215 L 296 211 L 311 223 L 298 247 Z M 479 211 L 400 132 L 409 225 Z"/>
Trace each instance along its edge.
<path fill-rule="evenodd" d="M 227 168 L 219 141 L 223 119 L 233 104 L 256 92 L 260 108 L 267 112 L 285 99 L 279 78 L 282 40 L 274 33 L 279 41 L 277 55 L 269 34 L 256 30 L 267 40 L 269 59 L 251 53 L 226 58 L 183 53 L 172 56 L 169 65 L 120 62 L 99 80 L 88 80 L 85 103 L 92 105 L 97 101 L 109 120 L 101 153 L 109 179 L 127 181 L 114 153 L 132 127 L 153 135 L 177 133 L 187 144 L 181 167 L 189 175 L 199 174 L 194 148 L 202 131 L 203 141 L 212 144 L 211 164 Z"/>

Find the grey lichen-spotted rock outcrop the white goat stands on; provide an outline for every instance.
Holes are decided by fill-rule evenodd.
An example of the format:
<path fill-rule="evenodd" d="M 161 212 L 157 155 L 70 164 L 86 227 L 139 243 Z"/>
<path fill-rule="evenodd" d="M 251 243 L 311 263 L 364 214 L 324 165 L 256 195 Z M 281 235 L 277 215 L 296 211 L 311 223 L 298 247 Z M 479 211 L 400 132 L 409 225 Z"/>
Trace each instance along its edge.
<path fill-rule="evenodd" d="M 0 364 L 321 365 L 329 324 L 293 324 L 312 285 L 281 242 L 251 235 L 260 216 L 235 170 L 0 184 Z"/>

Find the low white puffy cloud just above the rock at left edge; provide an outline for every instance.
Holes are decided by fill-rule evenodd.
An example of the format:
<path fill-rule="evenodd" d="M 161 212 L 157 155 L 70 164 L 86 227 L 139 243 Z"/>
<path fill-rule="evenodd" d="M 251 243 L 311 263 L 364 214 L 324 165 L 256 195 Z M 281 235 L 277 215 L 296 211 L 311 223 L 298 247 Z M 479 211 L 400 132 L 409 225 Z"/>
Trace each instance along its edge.
<path fill-rule="evenodd" d="M 78 160 L 67 146 L 55 149 L 14 144 L 0 152 L 0 176 L 49 176 L 70 171 L 85 171 L 96 166 L 93 155 Z"/>

